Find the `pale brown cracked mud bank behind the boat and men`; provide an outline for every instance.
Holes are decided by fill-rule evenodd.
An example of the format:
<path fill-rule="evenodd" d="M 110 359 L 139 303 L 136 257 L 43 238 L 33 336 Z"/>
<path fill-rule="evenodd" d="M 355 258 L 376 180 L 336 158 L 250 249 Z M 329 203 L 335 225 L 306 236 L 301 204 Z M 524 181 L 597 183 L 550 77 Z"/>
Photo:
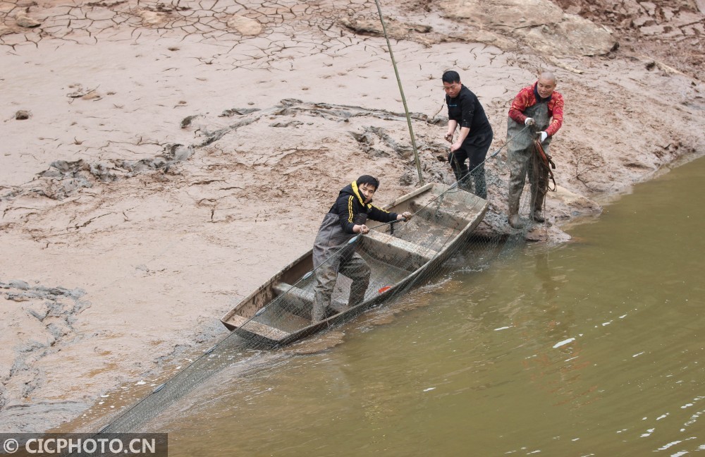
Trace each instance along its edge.
<path fill-rule="evenodd" d="M 559 242 L 560 224 L 705 150 L 703 16 L 699 0 L 536 3 L 384 14 L 426 181 L 452 182 L 443 71 L 479 95 L 493 152 L 516 92 L 558 75 L 560 188 L 534 236 Z M 0 431 L 56 427 L 209 347 L 360 174 L 381 176 L 382 203 L 417 185 L 376 14 L 370 0 L 0 1 Z M 507 230 L 504 161 L 488 164 L 480 233 Z M 85 427 L 119 409 L 103 403 Z"/>

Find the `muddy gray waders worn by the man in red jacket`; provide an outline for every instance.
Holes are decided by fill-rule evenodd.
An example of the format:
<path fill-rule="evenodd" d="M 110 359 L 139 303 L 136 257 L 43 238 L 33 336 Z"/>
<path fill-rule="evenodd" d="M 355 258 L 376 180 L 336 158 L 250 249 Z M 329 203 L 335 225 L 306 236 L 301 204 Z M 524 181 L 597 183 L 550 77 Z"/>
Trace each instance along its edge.
<path fill-rule="evenodd" d="M 543 222 L 544 216 L 541 209 L 544 207 L 544 198 L 548 192 L 548 170 L 541 166 L 538 154 L 534 154 L 532 143 L 536 132 L 548 128 L 548 102 L 541 102 L 529 106 L 524 110 L 524 115 L 533 118 L 536 126 L 524 130 L 524 126 L 509 118 L 507 126 L 508 158 L 509 158 L 509 201 L 507 220 L 515 229 L 521 229 L 523 224 L 519 219 L 519 201 L 524 190 L 527 174 L 531 183 L 530 217 L 534 221 Z M 522 132 L 522 130 L 524 130 Z M 513 138 L 513 139 L 512 139 Z M 548 154 L 551 145 L 551 136 L 541 143 Z"/>

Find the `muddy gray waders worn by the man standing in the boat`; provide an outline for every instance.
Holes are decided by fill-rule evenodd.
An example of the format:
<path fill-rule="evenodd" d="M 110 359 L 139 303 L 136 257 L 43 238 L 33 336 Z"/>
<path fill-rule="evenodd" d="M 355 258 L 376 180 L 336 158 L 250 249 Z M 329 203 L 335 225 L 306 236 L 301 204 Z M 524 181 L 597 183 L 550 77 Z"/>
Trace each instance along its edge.
<path fill-rule="evenodd" d="M 369 286 L 370 270 L 367 262 L 348 245 L 355 234 L 345 233 L 338 214 L 328 213 L 321 223 L 313 245 L 313 267 L 316 275 L 311 321 L 319 322 L 331 312 L 331 295 L 336 287 L 338 273 L 353 280 L 348 306 L 359 305 Z M 330 258 L 329 258 L 330 257 Z"/>

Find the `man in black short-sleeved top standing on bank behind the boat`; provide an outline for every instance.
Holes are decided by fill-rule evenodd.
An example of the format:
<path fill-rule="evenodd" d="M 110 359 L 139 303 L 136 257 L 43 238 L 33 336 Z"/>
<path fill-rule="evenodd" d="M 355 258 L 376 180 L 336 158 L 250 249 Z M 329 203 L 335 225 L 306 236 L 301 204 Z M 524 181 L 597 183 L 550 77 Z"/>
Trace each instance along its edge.
<path fill-rule="evenodd" d="M 448 133 L 450 142 L 448 162 L 453 168 L 458 185 L 470 191 L 470 178 L 474 181 L 475 195 L 487 199 L 487 184 L 484 175 L 484 159 L 492 144 L 492 127 L 489 125 L 477 95 L 460 83 L 460 75 L 446 71 L 441 77 L 448 105 Z M 455 129 L 460 126 L 458 140 L 453 142 Z M 465 161 L 470 159 L 470 176 Z"/>

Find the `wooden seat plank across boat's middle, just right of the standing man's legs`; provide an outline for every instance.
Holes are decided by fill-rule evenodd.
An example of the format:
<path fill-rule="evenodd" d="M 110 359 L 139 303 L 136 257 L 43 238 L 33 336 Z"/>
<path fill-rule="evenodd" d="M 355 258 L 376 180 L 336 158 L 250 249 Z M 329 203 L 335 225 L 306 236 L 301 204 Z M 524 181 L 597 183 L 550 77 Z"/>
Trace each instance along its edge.
<path fill-rule="evenodd" d="M 396 238 L 388 233 L 370 230 L 365 236 L 367 251 L 370 255 L 387 263 L 402 266 L 408 264 L 417 269 L 438 255 L 438 252 L 410 241 Z"/>

